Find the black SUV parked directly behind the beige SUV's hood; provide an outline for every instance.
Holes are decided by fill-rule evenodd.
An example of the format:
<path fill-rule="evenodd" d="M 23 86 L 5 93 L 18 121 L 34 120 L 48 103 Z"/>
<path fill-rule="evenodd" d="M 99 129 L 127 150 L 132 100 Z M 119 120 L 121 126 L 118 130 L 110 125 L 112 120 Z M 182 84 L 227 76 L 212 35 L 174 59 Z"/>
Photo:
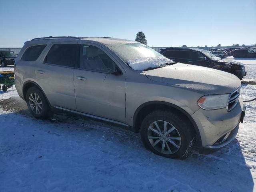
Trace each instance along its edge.
<path fill-rule="evenodd" d="M 244 64 L 232 60 L 222 60 L 211 52 L 194 48 L 166 48 L 160 53 L 175 62 L 204 66 L 236 75 L 240 80 L 246 76 Z"/>

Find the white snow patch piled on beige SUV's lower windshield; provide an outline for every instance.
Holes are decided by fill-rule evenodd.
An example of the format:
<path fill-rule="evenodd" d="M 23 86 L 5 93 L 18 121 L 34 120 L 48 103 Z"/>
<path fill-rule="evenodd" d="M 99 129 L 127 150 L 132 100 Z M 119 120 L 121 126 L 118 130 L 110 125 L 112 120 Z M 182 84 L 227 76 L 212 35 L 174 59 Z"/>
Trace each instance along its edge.
<path fill-rule="evenodd" d="M 166 57 L 137 57 L 127 62 L 127 64 L 136 71 L 143 71 L 150 67 L 165 66 L 166 63 L 174 62 Z"/>

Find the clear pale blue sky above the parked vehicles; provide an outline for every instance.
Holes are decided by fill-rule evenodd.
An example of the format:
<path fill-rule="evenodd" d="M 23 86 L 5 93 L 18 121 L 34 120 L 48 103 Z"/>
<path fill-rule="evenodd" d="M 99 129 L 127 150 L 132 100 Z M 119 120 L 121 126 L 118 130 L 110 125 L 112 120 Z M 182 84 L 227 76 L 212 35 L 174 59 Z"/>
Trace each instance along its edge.
<path fill-rule="evenodd" d="M 44 36 L 109 36 L 149 46 L 256 43 L 256 0 L 0 0 L 0 47 Z"/>

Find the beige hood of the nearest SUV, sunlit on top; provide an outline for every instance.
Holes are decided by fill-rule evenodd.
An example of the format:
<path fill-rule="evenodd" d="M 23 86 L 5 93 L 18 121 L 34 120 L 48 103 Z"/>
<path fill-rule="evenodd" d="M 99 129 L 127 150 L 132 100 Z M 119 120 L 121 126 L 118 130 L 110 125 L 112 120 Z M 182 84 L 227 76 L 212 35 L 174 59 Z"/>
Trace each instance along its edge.
<path fill-rule="evenodd" d="M 177 63 L 145 71 L 153 81 L 194 89 L 204 94 L 231 93 L 241 86 L 233 74 L 211 68 Z"/>

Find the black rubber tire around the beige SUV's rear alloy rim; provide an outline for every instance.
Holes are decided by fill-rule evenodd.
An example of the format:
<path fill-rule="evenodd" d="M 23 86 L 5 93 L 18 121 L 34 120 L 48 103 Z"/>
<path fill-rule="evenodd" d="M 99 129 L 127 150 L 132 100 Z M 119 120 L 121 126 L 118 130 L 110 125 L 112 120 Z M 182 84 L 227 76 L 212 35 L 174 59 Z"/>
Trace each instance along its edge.
<path fill-rule="evenodd" d="M 36 113 L 37 112 L 36 109 L 32 110 L 32 108 L 30 107 L 30 104 L 33 103 L 32 100 L 30 100 L 30 95 L 32 95 L 32 98 L 34 98 L 34 94 L 39 96 L 38 105 L 37 105 L 38 111 L 39 111 L 39 103 L 42 103 L 40 104 L 40 106 L 42 107 L 42 109 L 40 108 L 41 109 L 40 113 Z M 28 89 L 28 91 L 26 92 L 26 102 L 27 102 L 28 110 L 35 118 L 47 119 L 52 116 L 50 105 L 46 97 L 44 96 L 44 94 L 39 88 L 33 86 Z"/>

